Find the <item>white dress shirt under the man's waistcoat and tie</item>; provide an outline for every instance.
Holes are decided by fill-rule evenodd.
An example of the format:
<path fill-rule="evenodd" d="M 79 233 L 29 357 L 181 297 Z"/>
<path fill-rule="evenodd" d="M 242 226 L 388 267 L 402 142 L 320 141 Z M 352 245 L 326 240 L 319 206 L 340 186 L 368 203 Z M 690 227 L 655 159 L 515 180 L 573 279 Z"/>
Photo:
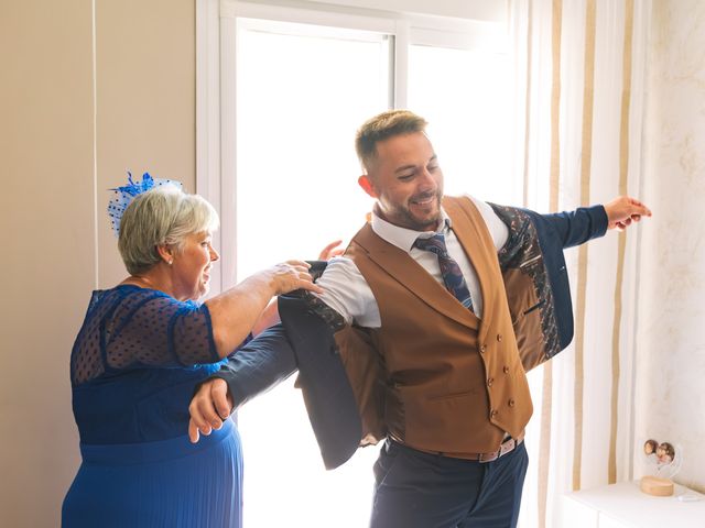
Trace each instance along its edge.
<path fill-rule="evenodd" d="M 482 216 L 495 242 L 495 248 L 497 250 L 501 249 L 509 237 L 507 226 L 486 202 L 469 196 L 468 198 L 473 200 L 475 207 L 477 207 Z M 371 223 L 372 231 L 375 231 L 378 237 L 409 253 L 433 278 L 443 284 L 437 256 L 430 251 L 413 246 L 414 241 L 419 237 L 433 237 L 433 234 L 435 234 L 434 232 L 400 228 L 399 226 L 382 220 L 375 212 L 372 212 Z M 451 230 L 451 219 L 443 208 L 441 208 L 441 221 L 437 232 L 445 235 L 448 254 L 458 263 L 470 292 L 473 311 L 481 319 L 482 295 L 477 273 L 475 273 L 470 261 L 465 255 L 457 237 L 455 237 L 455 233 Z M 316 284 L 324 289 L 324 293 L 318 297 L 340 314 L 346 323 L 350 324 L 355 322 L 366 328 L 379 328 L 381 326 L 379 307 L 377 306 L 375 295 L 351 258 L 345 256 L 332 258 L 323 275 L 316 280 Z"/>

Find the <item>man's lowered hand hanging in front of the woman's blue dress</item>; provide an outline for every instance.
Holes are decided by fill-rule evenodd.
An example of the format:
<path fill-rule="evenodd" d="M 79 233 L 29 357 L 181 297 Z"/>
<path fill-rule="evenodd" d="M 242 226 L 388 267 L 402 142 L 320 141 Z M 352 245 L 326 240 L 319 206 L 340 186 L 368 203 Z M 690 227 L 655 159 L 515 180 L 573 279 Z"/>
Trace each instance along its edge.
<path fill-rule="evenodd" d="M 220 429 L 223 421 L 232 411 L 232 397 L 228 393 L 225 380 L 215 378 L 205 382 L 191 400 L 188 413 L 188 438 L 196 443 L 200 435 L 210 435 L 213 429 Z"/>

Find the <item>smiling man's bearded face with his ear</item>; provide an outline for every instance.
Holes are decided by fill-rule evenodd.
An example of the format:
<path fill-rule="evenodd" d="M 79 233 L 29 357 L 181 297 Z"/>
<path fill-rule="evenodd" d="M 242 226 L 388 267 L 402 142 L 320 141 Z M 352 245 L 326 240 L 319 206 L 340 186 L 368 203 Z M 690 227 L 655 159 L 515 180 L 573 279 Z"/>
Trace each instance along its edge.
<path fill-rule="evenodd" d="M 423 132 L 377 143 L 377 158 L 358 180 L 378 200 L 378 215 L 414 231 L 434 231 L 441 218 L 443 173 Z"/>

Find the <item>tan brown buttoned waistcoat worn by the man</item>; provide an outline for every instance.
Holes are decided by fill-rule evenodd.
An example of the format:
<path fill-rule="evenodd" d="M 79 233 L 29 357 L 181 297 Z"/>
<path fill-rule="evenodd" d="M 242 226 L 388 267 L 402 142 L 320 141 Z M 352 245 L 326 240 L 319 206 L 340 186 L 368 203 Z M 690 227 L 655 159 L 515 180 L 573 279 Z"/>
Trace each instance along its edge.
<path fill-rule="evenodd" d="M 367 224 L 346 255 L 372 289 L 381 327 L 336 340 L 367 441 L 389 435 L 463 458 L 520 435 L 533 408 L 487 226 L 469 199 L 446 197 L 444 208 L 478 275 L 482 320 Z"/>

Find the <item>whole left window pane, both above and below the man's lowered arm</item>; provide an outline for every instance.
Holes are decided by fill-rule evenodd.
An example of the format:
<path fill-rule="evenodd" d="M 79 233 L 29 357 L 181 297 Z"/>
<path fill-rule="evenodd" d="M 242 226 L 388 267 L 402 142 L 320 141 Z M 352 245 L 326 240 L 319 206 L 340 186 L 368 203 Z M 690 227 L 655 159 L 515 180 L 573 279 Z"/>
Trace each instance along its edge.
<path fill-rule="evenodd" d="M 245 21 L 237 54 L 238 278 L 315 258 L 362 226 L 355 132 L 388 107 L 383 35 Z M 245 526 L 369 522 L 377 449 L 326 472 L 293 380 L 239 413 Z M 303 524 L 302 524 L 303 522 Z"/>

